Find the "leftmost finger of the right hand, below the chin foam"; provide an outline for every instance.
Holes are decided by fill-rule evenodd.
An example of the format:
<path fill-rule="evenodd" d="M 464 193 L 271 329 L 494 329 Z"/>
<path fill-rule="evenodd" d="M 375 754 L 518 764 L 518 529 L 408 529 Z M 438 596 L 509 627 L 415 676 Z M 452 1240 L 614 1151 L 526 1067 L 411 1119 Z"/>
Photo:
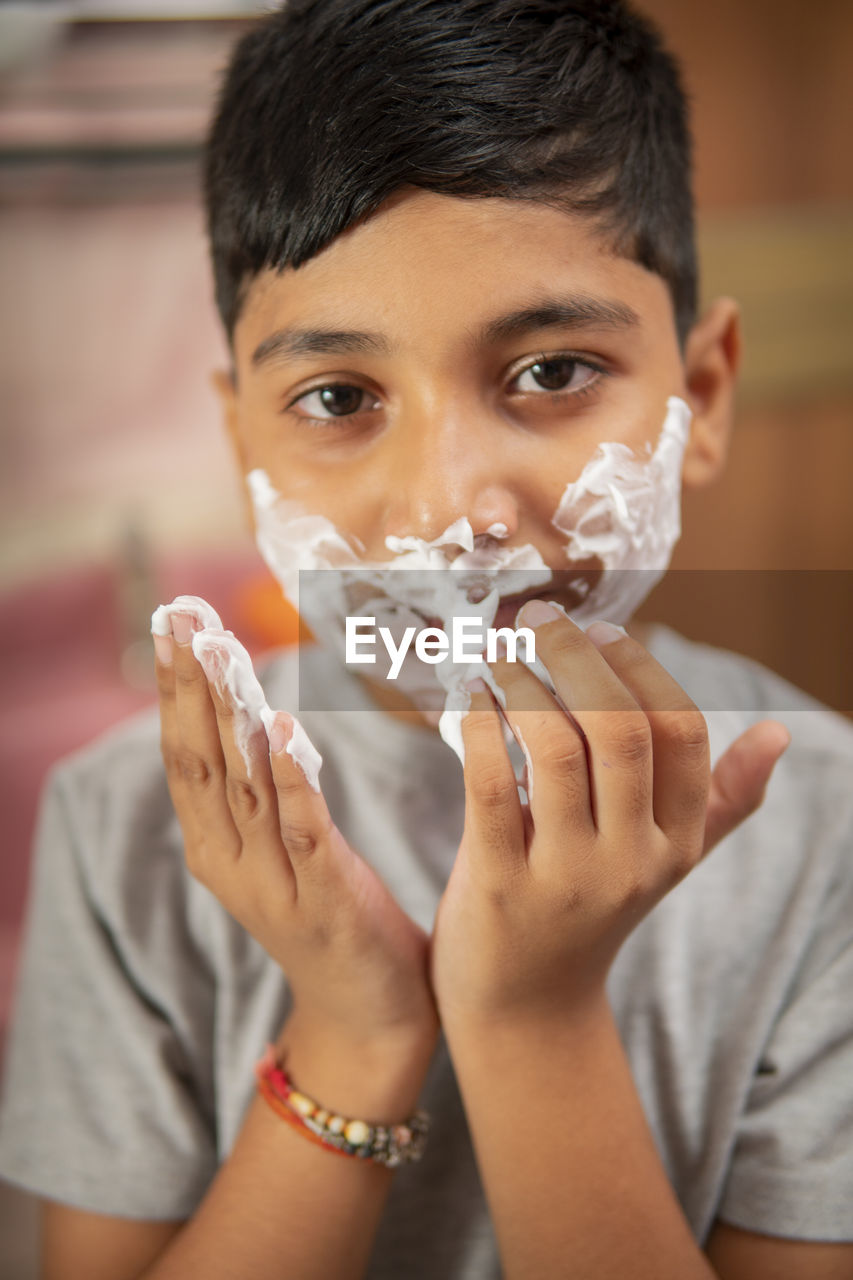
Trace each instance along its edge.
<path fill-rule="evenodd" d="M 524 819 L 501 716 L 483 681 L 469 689 L 471 705 L 462 717 L 465 844 L 471 867 L 494 883 L 517 874 L 526 860 Z"/>

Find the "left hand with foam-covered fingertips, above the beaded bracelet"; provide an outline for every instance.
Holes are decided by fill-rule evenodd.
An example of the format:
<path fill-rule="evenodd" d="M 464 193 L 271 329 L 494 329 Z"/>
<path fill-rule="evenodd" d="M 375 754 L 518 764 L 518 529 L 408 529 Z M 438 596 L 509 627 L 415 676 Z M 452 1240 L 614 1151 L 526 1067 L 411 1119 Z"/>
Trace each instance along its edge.
<path fill-rule="evenodd" d="M 257 713 L 216 678 L 224 632 L 205 632 L 207 678 L 191 644 L 200 630 L 199 613 L 173 613 L 172 636 L 156 637 L 163 756 L 190 872 L 280 965 L 318 1039 L 434 1042 L 426 936 L 287 754 L 291 717 L 275 714 L 272 750 Z M 260 700 L 247 659 L 243 680 Z"/>

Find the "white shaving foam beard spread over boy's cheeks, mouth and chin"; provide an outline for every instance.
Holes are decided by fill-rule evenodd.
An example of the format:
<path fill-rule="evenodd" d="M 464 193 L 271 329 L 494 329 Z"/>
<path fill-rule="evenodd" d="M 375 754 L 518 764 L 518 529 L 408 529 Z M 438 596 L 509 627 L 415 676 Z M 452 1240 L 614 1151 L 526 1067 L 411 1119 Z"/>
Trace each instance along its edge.
<path fill-rule="evenodd" d="M 578 480 L 566 485 L 552 525 L 566 538 L 571 566 L 599 566 L 594 586 L 574 582 L 579 604 L 570 617 L 585 627 L 596 618 L 626 622 L 670 563 L 681 531 L 681 462 L 690 410 L 667 399 L 657 444 L 635 453 L 626 444 L 601 444 Z M 309 515 L 283 498 L 263 470 L 248 474 L 257 547 L 284 595 L 319 641 L 345 660 L 346 618 L 370 616 L 377 630 L 388 627 L 398 645 L 406 627 L 441 627 L 453 617 L 479 618 L 491 627 L 501 599 L 544 586 L 552 570 L 530 543 L 501 547 L 503 526 L 475 535 L 465 516 L 438 538 L 386 538 L 389 561 L 368 561 L 357 539 L 347 539 L 324 516 Z M 306 573 L 304 571 L 328 571 Z M 507 573 L 506 571 L 511 571 Z M 503 590 L 501 590 L 503 588 Z M 521 646 L 523 652 L 523 646 Z M 371 678 L 387 677 L 382 646 Z M 553 685 L 538 660 L 532 669 Z M 465 689 L 480 676 L 501 703 L 503 692 L 483 662 L 421 662 L 410 648 L 396 687 L 405 694 L 464 760 L 461 721 L 470 705 Z"/>

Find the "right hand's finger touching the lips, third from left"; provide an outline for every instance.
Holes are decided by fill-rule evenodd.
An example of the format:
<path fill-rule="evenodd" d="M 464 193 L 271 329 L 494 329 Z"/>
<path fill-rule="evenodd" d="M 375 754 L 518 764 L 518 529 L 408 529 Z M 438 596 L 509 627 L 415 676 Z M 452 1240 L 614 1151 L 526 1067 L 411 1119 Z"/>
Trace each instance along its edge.
<path fill-rule="evenodd" d="M 616 846 L 653 823 L 652 733 L 643 710 L 580 627 L 560 609 L 532 600 L 519 622 L 535 632 L 537 658 L 587 740 L 597 829 Z"/>

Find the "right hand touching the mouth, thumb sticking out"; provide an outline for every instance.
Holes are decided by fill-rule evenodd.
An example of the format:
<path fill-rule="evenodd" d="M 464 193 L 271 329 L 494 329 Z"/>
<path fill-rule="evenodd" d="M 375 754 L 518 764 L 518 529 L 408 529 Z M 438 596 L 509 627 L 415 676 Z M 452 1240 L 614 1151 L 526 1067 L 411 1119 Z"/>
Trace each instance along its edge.
<path fill-rule="evenodd" d="M 624 940 L 761 804 L 789 741 L 756 724 L 711 773 L 703 716 L 637 640 L 556 611 L 535 637 L 564 707 L 523 663 L 493 664 L 529 805 L 487 690 L 462 722 L 465 831 L 432 942 L 446 1028 L 598 1005 Z"/>

